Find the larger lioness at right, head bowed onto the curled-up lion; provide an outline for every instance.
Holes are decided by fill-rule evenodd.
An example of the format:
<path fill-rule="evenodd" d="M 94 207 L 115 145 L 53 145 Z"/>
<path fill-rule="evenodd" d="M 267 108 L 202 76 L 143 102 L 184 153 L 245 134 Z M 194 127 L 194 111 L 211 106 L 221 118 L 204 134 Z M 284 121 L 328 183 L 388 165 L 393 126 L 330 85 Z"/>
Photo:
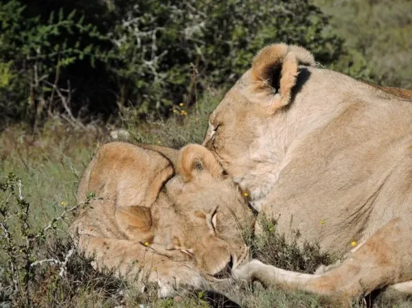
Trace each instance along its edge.
<path fill-rule="evenodd" d="M 323 274 L 251 261 L 238 276 L 328 295 L 401 282 L 412 292 L 411 94 L 319 69 L 301 47 L 260 51 L 211 113 L 203 145 L 281 232 L 358 250 Z"/>

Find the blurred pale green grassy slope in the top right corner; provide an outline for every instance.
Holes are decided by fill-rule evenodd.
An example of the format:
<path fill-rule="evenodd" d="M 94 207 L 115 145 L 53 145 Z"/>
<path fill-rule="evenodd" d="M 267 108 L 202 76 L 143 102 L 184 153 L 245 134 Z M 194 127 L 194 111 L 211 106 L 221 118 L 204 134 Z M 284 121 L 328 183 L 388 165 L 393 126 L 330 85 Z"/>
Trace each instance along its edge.
<path fill-rule="evenodd" d="M 332 29 L 345 38 L 351 61 L 361 54 L 374 81 L 412 88 L 412 1 L 313 0 L 332 16 Z"/>

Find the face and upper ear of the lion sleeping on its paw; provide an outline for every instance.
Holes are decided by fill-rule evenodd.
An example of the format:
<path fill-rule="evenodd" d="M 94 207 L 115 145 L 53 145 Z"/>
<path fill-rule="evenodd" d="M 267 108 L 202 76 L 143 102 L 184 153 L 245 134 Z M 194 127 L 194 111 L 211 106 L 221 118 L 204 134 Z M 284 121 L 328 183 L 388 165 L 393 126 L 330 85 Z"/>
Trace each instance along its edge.
<path fill-rule="evenodd" d="M 168 196 L 179 213 L 170 248 L 194 256 L 208 274 L 222 274 L 249 256 L 242 230 L 253 215 L 240 189 L 209 150 L 187 145 L 179 153 L 178 175 L 166 183 Z"/>

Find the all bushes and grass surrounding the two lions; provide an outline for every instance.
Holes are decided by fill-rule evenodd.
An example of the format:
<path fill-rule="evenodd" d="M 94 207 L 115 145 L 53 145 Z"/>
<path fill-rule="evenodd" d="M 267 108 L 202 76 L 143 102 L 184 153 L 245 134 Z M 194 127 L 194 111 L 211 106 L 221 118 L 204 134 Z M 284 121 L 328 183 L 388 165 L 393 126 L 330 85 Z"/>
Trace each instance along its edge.
<path fill-rule="evenodd" d="M 412 87 L 411 1 L 38 3 L 0 0 L 0 307 L 225 307 L 221 294 L 241 307 L 328 307 L 303 292 L 229 282 L 159 300 L 155 286 L 143 294 L 95 272 L 67 233 L 87 206 L 76 204 L 76 188 L 113 128 L 133 142 L 200 143 L 227 86 L 268 43 L 303 45 L 325 67 Z M 286 239 L 275 222 L 261 223 L 264 233 L 245 239 L 266 263 L 313 272 L 339 257 L 299 247 L 298 230 Z M 412 307 L 410 298 L 374 303 Z"/>

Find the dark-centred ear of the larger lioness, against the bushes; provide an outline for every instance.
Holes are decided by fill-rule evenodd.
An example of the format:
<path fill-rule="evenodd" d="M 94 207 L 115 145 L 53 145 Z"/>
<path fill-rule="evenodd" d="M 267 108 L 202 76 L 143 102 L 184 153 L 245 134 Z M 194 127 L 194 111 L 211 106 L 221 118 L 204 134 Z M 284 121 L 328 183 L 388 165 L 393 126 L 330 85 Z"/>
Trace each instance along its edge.
<path fill-rule="evenodd" d="M 253 59 L 251 84 L 245 88 L 245 95 L 273 114 L 290 103 L 299 63 L 316 66 L 313 55 L 303 47 L 286 44 L 264 47 Z"/>

